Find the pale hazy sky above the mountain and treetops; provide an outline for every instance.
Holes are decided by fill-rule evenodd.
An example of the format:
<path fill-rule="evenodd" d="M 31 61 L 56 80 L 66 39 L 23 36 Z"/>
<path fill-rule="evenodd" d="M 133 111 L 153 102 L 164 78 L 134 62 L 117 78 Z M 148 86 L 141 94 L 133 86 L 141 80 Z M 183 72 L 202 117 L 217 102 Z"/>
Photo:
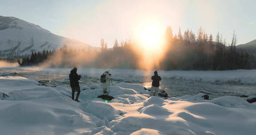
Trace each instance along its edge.
<path fill-rule="evenodd" d="M 256 0 L 0 0 L 0 15 L 14 16 L 68 38 L 108 47 L 133 39 L 144 25 L 156 25 L 164 33 L 170 25 L 196 33 L 201 26 L 238 44 L 256 39 Z"/>

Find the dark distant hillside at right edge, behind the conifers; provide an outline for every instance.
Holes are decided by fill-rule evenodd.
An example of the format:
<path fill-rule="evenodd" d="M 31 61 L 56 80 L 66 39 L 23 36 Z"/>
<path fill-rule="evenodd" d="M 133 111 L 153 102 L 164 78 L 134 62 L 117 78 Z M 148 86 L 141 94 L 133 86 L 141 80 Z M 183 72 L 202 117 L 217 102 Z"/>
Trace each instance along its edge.
<path fill-rule="evenodd" d="M 248 53 L 255 53 L 256 54 L 256 40 L 252 40 L 246 44 L 240 44 L 236 46 L 238 51 L 248 52 Z"/>

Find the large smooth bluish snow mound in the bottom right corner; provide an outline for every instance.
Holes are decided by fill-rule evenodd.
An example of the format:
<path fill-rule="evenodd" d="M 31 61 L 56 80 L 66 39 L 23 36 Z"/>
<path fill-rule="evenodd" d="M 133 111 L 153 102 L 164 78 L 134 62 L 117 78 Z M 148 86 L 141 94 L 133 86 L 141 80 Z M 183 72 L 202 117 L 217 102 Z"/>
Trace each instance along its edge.
<path fill-rule="evenodd" d="M 193 120 L 194 118 L 187 116 L 187 122 L 205 129 L 211 128 L 210 131 L 216 135 L 249 135 L 255 130 L 252 125 L 256 122 L 256 111 L 253 110 L 226 108 L 213 103 L 193 103 L 184 109 L 201 119 Z"/>

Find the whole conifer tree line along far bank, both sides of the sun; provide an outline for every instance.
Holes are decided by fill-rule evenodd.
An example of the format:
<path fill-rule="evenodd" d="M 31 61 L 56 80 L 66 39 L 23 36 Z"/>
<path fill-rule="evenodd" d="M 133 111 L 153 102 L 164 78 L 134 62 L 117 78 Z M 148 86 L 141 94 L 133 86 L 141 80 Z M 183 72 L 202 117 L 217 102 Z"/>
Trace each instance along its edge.
<path fill-rule="evenodd" d="M 256 55 L 236 50 L 237 37 L 230 44 L 218 32 L 216 36 L 199 28 L 196 34 L 185 30 L 173 34 L 168 26 L 165 32 L 164 57 L 156 67 L 159 70 L 235 70 L 255 69 Z M 214 40 L 215 39 L 215 40 Z M 49 67 L 97 67 L 137 69 L 140 60 L 138 45 L 131 40 L 118 42 L 108 48 L 100 40 L 100 50 L 74 49 L 66 45 L 54 51 L 32 52 L 21 65 L 47 64 Z"/>

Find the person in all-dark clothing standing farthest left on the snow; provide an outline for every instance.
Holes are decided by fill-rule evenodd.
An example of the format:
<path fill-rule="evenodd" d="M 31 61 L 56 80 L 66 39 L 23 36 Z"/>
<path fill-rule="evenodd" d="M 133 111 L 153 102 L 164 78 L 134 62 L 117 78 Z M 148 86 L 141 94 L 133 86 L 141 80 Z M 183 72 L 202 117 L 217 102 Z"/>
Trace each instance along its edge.
<path fill-rule="evenodd" d="M 72 89 L 72 99 L 75 98 L 75 91 L 77 91 L 75 101 L 79 102 L 78 97 L 80 95 L 80 86 L 78 80 L 81 79 L 81 75 L 77 75 L 77 68 L 74 67 L 69 74 L 70 87 Z"/>

